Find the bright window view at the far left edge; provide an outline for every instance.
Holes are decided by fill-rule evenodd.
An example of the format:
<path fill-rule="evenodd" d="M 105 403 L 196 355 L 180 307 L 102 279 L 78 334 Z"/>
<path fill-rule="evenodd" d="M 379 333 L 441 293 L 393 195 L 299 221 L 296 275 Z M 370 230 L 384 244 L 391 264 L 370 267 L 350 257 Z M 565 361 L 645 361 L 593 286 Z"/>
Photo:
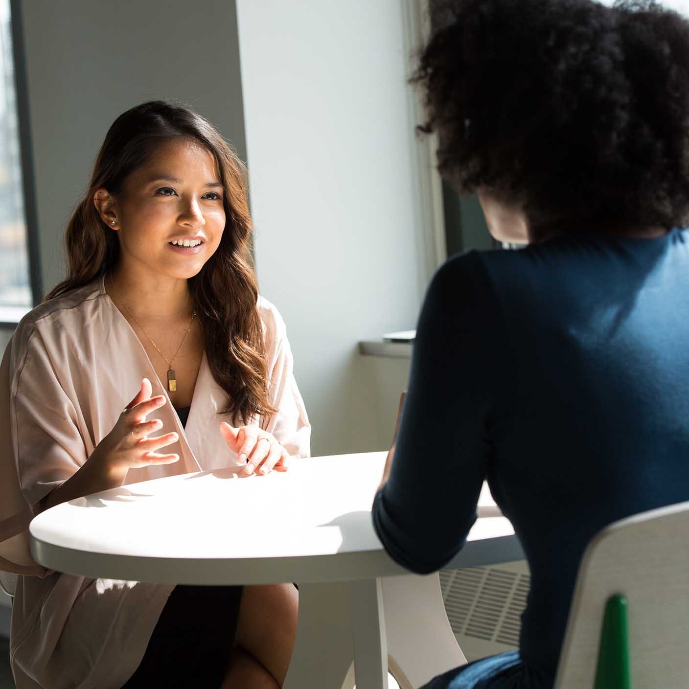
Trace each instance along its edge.
<path fill-rule="evenodd" d="M 0 307 L 30 307 L 9 0 L 0 0 L 0 78 Z"/>

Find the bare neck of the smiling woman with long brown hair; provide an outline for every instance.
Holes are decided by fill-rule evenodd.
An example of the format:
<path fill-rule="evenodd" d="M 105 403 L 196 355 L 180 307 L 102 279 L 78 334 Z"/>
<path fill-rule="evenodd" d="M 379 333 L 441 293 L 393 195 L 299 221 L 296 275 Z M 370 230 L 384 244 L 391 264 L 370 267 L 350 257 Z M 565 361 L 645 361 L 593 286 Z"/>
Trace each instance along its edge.
<path fill-rule="evenodd" d="M 117 266 L 105 276 L 105 291 L 139 320 L 164 322 L 192 316 L 192 298 L 185 278 L 135 274 Z"/>

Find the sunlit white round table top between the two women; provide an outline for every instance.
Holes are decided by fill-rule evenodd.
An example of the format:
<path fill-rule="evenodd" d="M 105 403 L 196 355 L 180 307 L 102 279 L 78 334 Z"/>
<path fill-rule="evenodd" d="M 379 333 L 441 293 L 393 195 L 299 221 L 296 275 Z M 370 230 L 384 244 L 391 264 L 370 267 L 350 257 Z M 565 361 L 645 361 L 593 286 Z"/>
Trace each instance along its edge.
<path fill-rule="evenodd" d="M 292 460 L 130 484 L 57 505 L 30 525 L 48 568 L 159 584 L 326 582 L 407 573 L 384 552 L 371 502 L 386 453 Z M 523 557 L 484 486 L 480 519 L 449 566 Z M 481 517 L 482 514 L 493 516 Z"/>

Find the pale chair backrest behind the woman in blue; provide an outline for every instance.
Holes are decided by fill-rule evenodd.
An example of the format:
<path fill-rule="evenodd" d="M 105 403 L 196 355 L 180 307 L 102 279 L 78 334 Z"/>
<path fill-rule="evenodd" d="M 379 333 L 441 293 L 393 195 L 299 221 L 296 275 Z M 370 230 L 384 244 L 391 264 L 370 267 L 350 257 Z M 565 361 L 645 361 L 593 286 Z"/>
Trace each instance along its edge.
<path fill-rule="evenodd" d="M 606 604 L 627 601 L 632 685 L 689 685 L 689 502 L 610 524 L 586 548 L 556 689 L 593 689 Z"/>

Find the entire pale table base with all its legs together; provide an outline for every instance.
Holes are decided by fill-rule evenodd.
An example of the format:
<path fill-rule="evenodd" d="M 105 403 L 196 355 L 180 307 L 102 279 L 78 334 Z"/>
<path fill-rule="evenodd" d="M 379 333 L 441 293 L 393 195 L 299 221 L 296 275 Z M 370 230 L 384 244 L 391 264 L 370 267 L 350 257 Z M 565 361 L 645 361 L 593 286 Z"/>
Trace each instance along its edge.
<path fill-rule="evenodd" d="M 350 689 L 355 652 L 357 689 L 387 689 L 388 663 L 402 689 L 466 664 L 438 574 L 300 584 L 296 643 L 283 689 Z"/>

